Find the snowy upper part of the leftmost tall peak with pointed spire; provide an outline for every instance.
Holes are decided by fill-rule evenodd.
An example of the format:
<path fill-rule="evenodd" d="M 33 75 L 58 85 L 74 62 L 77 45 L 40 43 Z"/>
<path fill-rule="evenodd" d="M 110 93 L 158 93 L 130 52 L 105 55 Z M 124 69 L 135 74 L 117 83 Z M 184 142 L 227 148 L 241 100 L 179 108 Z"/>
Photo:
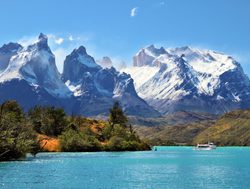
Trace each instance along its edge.
<path fill-rule="evenodd" d="M 0 74 L 0 82 L 25 80 L 32 86 L 43 86 L 53 96 L 70 96 L 71 92 L 60 79 L 55 56 L 47 42 L 47 36 L 40 34 L 38 42 L 12 56 L 8 67 Z"/>

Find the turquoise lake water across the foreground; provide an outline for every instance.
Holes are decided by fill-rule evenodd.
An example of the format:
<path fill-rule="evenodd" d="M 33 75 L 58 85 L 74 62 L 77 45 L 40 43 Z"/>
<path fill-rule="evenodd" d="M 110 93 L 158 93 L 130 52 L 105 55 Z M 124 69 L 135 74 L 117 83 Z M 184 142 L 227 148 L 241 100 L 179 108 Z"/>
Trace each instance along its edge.
<path fill-rule="evenodd" d="M 41 153 L 0 163 L 0 188 L 250 188 L 250 148 Z"/>

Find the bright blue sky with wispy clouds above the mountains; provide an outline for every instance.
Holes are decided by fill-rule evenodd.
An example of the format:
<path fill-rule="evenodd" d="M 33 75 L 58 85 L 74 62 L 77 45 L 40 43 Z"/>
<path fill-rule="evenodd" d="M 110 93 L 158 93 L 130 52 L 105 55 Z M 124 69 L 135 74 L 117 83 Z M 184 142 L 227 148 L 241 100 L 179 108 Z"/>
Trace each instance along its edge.
<path fill-rule="evenodd" d="M 79 45 L 126 64 L 149 44 L 190 45 L 234 56 L 250 76 L 249 10 L 248 0 L 2 0 L 0 44 L 48 34 L 59 70 Z"/>

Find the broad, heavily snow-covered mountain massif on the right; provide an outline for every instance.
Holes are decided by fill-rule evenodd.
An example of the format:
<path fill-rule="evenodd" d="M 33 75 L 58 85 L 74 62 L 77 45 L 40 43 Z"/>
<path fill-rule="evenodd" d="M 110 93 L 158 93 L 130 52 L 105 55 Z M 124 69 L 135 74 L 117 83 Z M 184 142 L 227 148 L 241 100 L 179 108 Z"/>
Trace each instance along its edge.
<path fill-rule="evenodd" d="M 250 107 L 242 103 L 250 98 L 250 81 L 240 64 L 223 53 L 189 46 L 162 50 L 151 45 L 134 56 L 133 65 L 122 71 L 134 79 L 139 96 L 162 113 L 221 113 L 246 104 Z"/>

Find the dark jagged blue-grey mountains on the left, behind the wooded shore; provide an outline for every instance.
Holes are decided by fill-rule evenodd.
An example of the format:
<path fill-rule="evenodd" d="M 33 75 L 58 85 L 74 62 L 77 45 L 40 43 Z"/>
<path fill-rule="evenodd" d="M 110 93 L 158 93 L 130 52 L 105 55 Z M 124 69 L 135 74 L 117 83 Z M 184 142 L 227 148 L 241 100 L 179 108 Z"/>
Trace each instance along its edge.
<path fill-rule="evenodd" d="M 129 115 L 159 116 L 136 93 L 133 79 L 115 68 L 102 68 L 80 46 L 68 55 L 62 75 L 40 34 L 38 42 L 22 48 L 8 44 L 0 48 L 0 101 L 17 100 L 25 110 L 35 105 L 63 107 L 69 114 L 107 115 L 120 101 Z"/>

